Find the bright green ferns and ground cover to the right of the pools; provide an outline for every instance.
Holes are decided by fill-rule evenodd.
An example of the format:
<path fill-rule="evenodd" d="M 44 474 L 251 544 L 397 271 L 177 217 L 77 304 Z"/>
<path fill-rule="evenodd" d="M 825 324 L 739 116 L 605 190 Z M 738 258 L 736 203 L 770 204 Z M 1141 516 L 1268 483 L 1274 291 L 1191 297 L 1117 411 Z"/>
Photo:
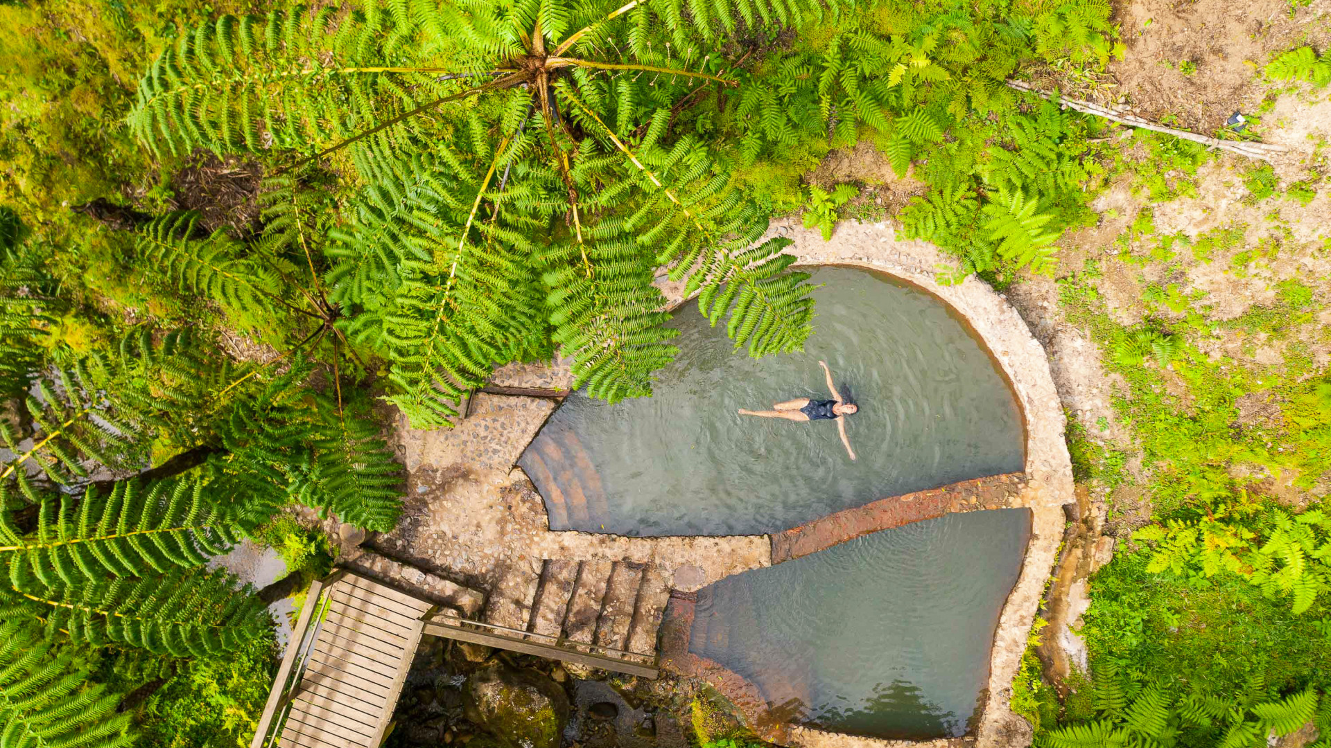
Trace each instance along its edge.
<path fill-rule="evenodd" d="M 1280 64 L 1267 69 L 1272 79 L 1287 77 Z M 1137 184 L 1151 202 L 1173 200 L 1195 189 L 1190 174 L 1206 160 L 1185 144 L 1174 185 L 1146 174 Z M 1316 181 L 1282 196 L 1270 166 L 1250 165 L 1239 180 L 1248 205 L 1306 204 L 1299 192 Z M 1307 721 L 1322 731 L 1319 745 L 1331 735 L 1331 544 L 1324 508 L 1306 492 L 1331 468 L 1331 383 L 1308 353 L 1310 335 L 1324 338 L 1320 293 L 1291 278 L 1272 302 L 1215 322 L 1206 293 L 1147 283 L 1143 321 L 1127 326 L 1095 286 L 1109 262 L 1178 269 L 1217 256 L 1233 257 L 1227 272 L 1243 278 L 1290 236 L 1278 213 L 1267 220 L 1274 237 L 1246 246 L 1246 226 L 1189 238 L 1159 232 L 1146 206 L 1117 257 L 1059 280 L 1067 319 L 1125 385 L 1113 409 L 1134 442 L 1134 454 L 1107 447 L 1074 423 L 1074 471 L 1110 496 L 1111 522 L 1135 530 L 1119 531 L 1114 560 L 1091 579 L 1081 630 L 1091 672 L 1053 701 L 1061 725 L 1047 720 L 1047 691 L 1024 691 L 1025 711 L 1044 717 L 1040 745 L 1259 745 Z M 1235 337 L 1246 341 L 1240 354 L 1217 353 Z M 1258 341 L 1283 345 L 1283 365 L 1256 363 Z M 1264 415 L 1244 414 L 1255 406 Z"/>

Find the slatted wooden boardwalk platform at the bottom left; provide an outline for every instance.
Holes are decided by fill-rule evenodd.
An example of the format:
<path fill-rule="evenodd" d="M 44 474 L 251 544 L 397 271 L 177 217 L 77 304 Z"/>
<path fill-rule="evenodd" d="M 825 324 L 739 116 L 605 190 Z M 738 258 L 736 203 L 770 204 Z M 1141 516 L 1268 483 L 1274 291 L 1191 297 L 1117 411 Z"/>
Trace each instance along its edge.
<path fill-rule="evenodd" d="M 345 570 L 311 584 L 250 748 L 378 748 L 434 610 Z"/>

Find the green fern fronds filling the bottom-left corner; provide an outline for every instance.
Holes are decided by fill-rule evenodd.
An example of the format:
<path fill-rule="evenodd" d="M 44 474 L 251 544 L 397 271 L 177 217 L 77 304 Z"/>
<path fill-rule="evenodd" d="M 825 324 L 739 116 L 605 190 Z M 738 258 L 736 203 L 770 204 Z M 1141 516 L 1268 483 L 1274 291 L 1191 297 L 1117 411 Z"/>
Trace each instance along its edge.
<path fill-rule="evenodd" d="M 13 748 L 134 745 L 120 696 L 89 681 L 89 668 L 41 642 L 35 627 L 0 624 L 0 741 Z"/>

